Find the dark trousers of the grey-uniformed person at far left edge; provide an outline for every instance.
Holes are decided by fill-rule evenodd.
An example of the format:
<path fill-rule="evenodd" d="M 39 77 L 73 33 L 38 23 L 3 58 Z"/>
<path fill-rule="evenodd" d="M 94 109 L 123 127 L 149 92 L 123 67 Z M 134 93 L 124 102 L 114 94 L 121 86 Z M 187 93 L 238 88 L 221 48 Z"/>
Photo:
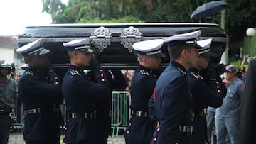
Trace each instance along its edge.
<path fill-rule="evenodd" d="M 0 115 L 0 144 L 7 144 L 10 134 L 11 118 L 8 115 Z"/>

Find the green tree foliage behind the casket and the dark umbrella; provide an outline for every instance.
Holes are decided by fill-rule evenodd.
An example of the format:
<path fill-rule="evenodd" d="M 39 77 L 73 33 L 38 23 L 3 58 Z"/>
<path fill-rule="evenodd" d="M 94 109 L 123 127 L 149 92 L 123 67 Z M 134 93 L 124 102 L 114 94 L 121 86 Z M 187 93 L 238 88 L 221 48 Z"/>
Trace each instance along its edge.
<path fill-rule="evenodd" d="M 43 0 L 43 12 L 50 13 L 53 23 L 203 22 L 203 19 L 191 21 L 190 16 L 198 6 L 209 1 L 69 0 L 66 6 L 60 0 Z M 234 31 L 244 33 L 246 26 L 255 27 L 255 0 L 227 2 L 225 31 L 228 34 L 238 35 Z M 220 13 L 213 16 L 212 22 L 220 23 Z"/>

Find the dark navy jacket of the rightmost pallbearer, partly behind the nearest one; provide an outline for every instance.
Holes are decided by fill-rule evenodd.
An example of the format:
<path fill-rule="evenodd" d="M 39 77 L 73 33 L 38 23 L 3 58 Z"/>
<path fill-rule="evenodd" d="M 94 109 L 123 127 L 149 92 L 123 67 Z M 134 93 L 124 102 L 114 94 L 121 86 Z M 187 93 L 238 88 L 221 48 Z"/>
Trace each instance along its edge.
<path fill-rule="evenodd" d="M 206 140 L 206 116 L 204 108 L 211 106 L 217 108 L 223 103 L 220 86 L 216 81 L 210 82 L 210 86 L 198 74 L 196 68 L 188 70 L 188 87 L 191 89 L 193 99 L 193 133 L 194 144 L 204 144 Z"/>

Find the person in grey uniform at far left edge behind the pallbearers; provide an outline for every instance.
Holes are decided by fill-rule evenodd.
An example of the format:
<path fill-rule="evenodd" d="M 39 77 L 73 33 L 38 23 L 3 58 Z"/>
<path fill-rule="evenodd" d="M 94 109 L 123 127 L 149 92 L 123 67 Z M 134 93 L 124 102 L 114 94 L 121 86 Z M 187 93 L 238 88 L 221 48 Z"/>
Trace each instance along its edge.
<path fill-rule="evenodd" d="M 11 113 L 16 113 L 17 84 L 7 76 L 11 74 L 11 65 L 0 63 L 0 144 L 8 143 L 11 125 Z M 15 115 L 13 115 L 15 116 Z"/>

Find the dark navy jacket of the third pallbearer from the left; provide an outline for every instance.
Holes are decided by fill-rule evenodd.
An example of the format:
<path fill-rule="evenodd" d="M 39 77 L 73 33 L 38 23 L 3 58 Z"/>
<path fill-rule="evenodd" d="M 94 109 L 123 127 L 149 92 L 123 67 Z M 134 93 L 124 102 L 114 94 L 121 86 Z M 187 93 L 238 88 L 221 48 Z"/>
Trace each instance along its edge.
<path fill-rule="evenodd" d="M 132 78 L 131 96 L 132 111 L 148 111 L 148 102 L 153 94 L 156 80 L 161 74 L 161 70 L 150 70 L 142 65 L 135 70 Z M 127 126 L 125 133 L 126 140 L 130 142 L 149 143 L 154 132 L 153 123 L 149 116 L 133 115 Z"/>

